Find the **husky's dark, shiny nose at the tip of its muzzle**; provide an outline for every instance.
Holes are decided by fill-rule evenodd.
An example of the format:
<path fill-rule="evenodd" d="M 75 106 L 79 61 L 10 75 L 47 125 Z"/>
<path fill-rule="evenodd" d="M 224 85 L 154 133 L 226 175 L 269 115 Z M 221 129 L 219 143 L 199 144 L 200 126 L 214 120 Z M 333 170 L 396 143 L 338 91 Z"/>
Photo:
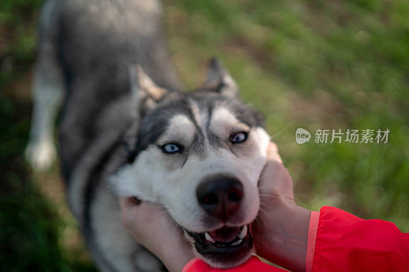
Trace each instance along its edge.
<path fill-rule="evenodd" d="M 235 178 L 217 175 L 201 182 L 196 188 L 196 196 L 207 213 L 225 222 L 240 207 L 243 185 Z"/>

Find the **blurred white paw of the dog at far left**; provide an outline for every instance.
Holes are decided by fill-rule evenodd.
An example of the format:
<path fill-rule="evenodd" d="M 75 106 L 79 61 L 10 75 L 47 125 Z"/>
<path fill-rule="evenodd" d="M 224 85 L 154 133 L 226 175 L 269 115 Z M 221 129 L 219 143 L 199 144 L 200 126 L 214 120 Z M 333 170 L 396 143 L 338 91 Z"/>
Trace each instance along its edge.
<path fill-rule="evenodd" d="M 27 145 L 26 160 L 36 171 L 49 169 L 56 158 L 57 151 L 52 141 L 35 141 Z"/>

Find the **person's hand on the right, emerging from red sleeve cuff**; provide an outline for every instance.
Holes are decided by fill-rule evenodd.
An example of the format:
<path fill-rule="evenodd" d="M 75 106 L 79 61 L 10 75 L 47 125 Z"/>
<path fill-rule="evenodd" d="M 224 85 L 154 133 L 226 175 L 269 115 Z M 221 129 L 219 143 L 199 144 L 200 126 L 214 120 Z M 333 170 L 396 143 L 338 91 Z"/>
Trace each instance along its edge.
<path fill-rule="evenodd" d="M 251 226 L 256 253 L 291 271 L 305 271 L 311 212 L 294 202 L 291 176 L 270 143 L 258 184 L 260 210 Z"/>

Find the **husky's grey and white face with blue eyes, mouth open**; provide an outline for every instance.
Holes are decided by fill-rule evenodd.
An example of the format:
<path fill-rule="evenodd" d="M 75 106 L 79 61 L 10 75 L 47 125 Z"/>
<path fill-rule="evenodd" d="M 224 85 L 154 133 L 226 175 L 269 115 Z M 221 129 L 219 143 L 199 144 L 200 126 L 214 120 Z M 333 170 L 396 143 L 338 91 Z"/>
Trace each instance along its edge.
<path fill-rule="evenodd" d="M 257 181 L 269 136 L 215 65 L 219 83 L 169 94 L 146 113 L 128 164 L 111 182 L 121 195 L 163 204 L 198 257 L 226 268 L 253 250 L 248 224 L 259 209 Z"/>

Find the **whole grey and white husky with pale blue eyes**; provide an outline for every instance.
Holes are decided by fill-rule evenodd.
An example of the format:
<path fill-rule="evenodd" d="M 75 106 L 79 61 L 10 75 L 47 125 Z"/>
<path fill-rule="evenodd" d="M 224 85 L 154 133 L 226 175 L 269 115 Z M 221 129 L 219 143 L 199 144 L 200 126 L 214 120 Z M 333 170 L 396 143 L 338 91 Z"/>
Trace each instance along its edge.
<path fill-rule="evenodd" d="M 158 0 L 49 0 L 41 13 L 26 155 L 36 168 L 52 163 L 62 104 L 69 205 L 101 270 L 163 268 L 122 226 L 119 196 L 164 205 L 214 267 L 253 252 L 269 136 L 215 59 L 202 87 L 178 91 L 162 13 Z"/>

